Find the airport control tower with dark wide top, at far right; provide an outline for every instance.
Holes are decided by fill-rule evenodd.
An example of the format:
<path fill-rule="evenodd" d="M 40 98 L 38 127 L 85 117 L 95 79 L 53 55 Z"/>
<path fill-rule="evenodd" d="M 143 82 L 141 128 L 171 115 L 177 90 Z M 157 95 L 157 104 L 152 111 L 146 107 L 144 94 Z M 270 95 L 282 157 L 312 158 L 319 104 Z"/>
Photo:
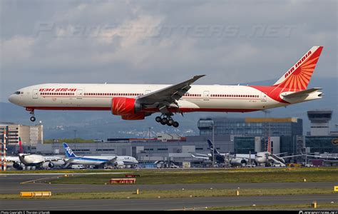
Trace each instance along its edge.
<path fill-rule="evenodd" d="M 307 111 L 311 121 L 311 136 L 329 136 L 329 121 L 332 111 Z"/>

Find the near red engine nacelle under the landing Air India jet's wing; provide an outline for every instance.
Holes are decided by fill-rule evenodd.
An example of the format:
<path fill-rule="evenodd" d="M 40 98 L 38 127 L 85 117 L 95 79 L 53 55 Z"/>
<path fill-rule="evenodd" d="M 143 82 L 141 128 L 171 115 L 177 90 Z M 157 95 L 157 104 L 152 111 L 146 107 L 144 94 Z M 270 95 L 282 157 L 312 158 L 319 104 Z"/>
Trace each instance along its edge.
<path fill-rule="evenodd" d="M 134 98 L 117 97 L 111 101 L 111 112 L 113 115 L 133 115 L 140 111 L 140 109 L 140 104 L 138 104 Z"/>

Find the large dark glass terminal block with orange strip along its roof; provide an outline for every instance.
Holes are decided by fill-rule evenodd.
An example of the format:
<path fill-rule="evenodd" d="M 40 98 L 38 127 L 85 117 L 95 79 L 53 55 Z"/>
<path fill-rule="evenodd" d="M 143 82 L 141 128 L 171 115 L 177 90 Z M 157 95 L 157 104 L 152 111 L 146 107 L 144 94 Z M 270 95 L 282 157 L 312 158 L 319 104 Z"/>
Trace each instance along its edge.
<path fill-rule="evenodd" d="M 201 136 L 212 136 L 212 132 L 215 136 L 232 136 L 235 153 L 247 153 L 249 148 L 267 151 L 268 136 L 272 139 L 273 153 L 296 155 L 304 148 L 300 118 L 201 118 L 198 129 Z"/>

